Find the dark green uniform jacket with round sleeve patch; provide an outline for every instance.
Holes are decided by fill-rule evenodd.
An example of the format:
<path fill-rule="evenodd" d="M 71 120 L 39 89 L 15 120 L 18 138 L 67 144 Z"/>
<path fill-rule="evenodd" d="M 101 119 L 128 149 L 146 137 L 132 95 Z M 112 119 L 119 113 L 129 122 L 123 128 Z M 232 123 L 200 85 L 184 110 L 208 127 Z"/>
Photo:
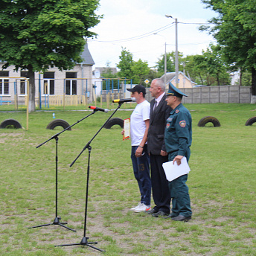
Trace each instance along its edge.
<path fill-rule="evenodd" d="M 167 153 L 177 151 L 176 156 L 189 157 L 187 154 L 192 143 L 192 118 L 182 103 L 176 106 L 167 118 L 164 141 Z"/>

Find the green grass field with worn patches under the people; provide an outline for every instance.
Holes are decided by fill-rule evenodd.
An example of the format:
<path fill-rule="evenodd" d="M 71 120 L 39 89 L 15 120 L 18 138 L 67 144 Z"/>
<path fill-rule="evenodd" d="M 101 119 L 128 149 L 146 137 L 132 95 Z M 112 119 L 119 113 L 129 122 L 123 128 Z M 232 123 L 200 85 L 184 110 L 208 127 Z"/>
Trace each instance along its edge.
<path fill-rule="evenodd" d="M 130 141 L 122 141 L 120 127 L 102 129 L 92 141 L 86 236 L 104 255 L 256 255 L 256 123 L 245 126 L 256 116 L 256 106 L 185 106 L 193 118 L 188 177 L 193 217 L 188 223 L 129 211 L 139 202 Z M 91 112 L 53 110 L 68 124 Z M 61 131 L 46 129 L 52 113 L 31 113 L 28 131 L 0 129 L 0 255 L 101 254 L 88 246 L 54 246 L 83 238 L 88 150 L 69 165 L 111 112 L 96 112 L 59 136 L 58 216 L 77 232 L 60 225 L 28 229 L 55 218 L 55 140 L 36 149 Z M 114 117 L 130 114 L 118 111 Z M 208 115 L 221 127 L 197 127 Z M 0 122 L 8 118 L 25 124 L 25 111 L 0 111 Z"/>

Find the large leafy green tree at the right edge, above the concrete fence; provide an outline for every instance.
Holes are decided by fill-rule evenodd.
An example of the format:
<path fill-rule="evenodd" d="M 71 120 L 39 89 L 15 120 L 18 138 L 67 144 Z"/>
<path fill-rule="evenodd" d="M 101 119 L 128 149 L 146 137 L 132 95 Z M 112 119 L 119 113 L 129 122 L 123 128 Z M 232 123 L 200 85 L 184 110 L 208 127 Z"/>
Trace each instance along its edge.
<path fill-rule="evenodd" d="M 217 39 L 225 60 L 242 71 L 252 71 L 252 102 L 256 103 L 256 5 L 255 0 L 202 0 L 219 13 L 208 30 Z"/>

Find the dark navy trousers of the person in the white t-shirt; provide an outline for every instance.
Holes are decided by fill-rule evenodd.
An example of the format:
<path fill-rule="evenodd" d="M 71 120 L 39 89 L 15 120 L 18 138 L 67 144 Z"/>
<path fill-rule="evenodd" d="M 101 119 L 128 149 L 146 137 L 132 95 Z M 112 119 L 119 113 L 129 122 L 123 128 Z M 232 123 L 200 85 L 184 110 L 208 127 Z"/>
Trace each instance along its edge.
<path fill-rule="evenodd" d="M 150 179 L 150 156 L 147 153 L 147 144 L 144 145 L 143 156 L 136 157 L 135 152 L 138 146 L 132 146 L 132 167 L 138 188 L 141 192 L 141 203 L 150 205 L 151 200 L 151 179 Z"/>

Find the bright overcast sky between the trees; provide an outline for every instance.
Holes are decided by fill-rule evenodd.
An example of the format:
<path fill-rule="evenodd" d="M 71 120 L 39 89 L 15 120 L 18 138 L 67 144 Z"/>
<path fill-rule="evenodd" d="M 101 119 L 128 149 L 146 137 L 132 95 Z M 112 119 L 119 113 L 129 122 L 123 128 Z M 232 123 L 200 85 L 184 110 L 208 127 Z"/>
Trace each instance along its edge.
<path fill-rule="evenodd" d="M 178 51 L 185 56 L 202 54 L 214 42 L 207 32 L 198 30 L 199 24 L 189 24 L 217 16 L 201 0 L 100 0 L 97 14 L 103 14 L 103 19 L 91 31 L 98 36 L 88 41 L 93 69 L 106 63 L 115 67 L 122 47 L 132 53 L 133 60 L 147 61 L 150 67 L 164 54 L 165 42 L 167 52 L 175 51 L 175 20 L 165 14 L 178 20 Z"/>

